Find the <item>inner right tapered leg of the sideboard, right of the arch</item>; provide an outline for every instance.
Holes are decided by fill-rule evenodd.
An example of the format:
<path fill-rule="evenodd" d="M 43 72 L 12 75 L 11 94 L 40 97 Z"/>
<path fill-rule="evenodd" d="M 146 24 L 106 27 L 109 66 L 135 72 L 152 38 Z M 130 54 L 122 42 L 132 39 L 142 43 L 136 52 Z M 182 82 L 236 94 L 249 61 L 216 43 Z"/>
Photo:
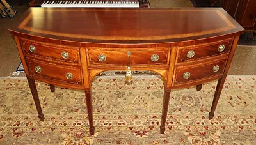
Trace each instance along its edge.
<path fill-rule="evenodd" d="M 165 123 L 166 123 L 166 117 L 168 112 L 170 93 L 171 93 L 170 90 L 164 90 L 163 110 L 162 110 L 162 119 L 161 119 L 161 126 L 160 126 L 161 134 L 164 134 L 164 131 L 165 131 Z"/>

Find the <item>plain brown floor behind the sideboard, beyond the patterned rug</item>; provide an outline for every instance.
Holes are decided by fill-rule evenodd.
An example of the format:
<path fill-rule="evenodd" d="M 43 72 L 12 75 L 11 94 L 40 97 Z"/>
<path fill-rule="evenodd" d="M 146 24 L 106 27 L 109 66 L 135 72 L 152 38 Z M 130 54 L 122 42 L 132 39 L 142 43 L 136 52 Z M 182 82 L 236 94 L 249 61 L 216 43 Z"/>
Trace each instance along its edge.
<path fill-rule="evenodd" d="M 189 0 L 149 0 L 152 8 L 193 7 Z M 29 7 L 14 6 L 15 18 L 0 18 L 0 77 L 12 76 L 20 63 L 19 54 L 8 29 Z M 228 75 L 256 74 L 256 46 L 238 46 Z"/>

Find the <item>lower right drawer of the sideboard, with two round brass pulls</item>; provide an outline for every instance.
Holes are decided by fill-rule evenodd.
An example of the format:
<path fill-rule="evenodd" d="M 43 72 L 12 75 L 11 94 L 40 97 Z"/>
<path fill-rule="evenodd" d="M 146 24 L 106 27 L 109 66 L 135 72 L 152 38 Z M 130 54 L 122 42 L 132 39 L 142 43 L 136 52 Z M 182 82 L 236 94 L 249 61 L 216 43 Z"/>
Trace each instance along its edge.
<path fill-rule="evenodd" d="M 225 69 L 226 61 L 227 58 L 206 64 L 176 67 L 174 85 L 220 75 Z"/>

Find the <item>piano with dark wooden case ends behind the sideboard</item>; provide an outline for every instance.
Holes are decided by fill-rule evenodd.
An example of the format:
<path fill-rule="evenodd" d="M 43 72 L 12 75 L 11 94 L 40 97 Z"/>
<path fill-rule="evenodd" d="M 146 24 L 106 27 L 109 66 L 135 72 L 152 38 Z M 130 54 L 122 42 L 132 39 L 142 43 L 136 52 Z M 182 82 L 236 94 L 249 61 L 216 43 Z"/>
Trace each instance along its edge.
<path fill-rule="evenodd" d="M 149 8 L 148 0 L 31 0 L 31 7 L 46 8 Z"/>

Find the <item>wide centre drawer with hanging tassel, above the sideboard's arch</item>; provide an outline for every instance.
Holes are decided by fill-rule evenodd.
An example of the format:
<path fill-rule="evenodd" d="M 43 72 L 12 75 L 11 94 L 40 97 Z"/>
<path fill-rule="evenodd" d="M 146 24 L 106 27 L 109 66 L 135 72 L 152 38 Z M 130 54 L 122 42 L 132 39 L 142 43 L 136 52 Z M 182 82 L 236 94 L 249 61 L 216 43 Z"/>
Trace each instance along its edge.
<path fill-rule="evenodd" d="M 127 52 L 131 52 L 130 65 L 167 64 L 169 48 L 132 50 L 88 50 L 90 65 L 128 65 Z"/>

